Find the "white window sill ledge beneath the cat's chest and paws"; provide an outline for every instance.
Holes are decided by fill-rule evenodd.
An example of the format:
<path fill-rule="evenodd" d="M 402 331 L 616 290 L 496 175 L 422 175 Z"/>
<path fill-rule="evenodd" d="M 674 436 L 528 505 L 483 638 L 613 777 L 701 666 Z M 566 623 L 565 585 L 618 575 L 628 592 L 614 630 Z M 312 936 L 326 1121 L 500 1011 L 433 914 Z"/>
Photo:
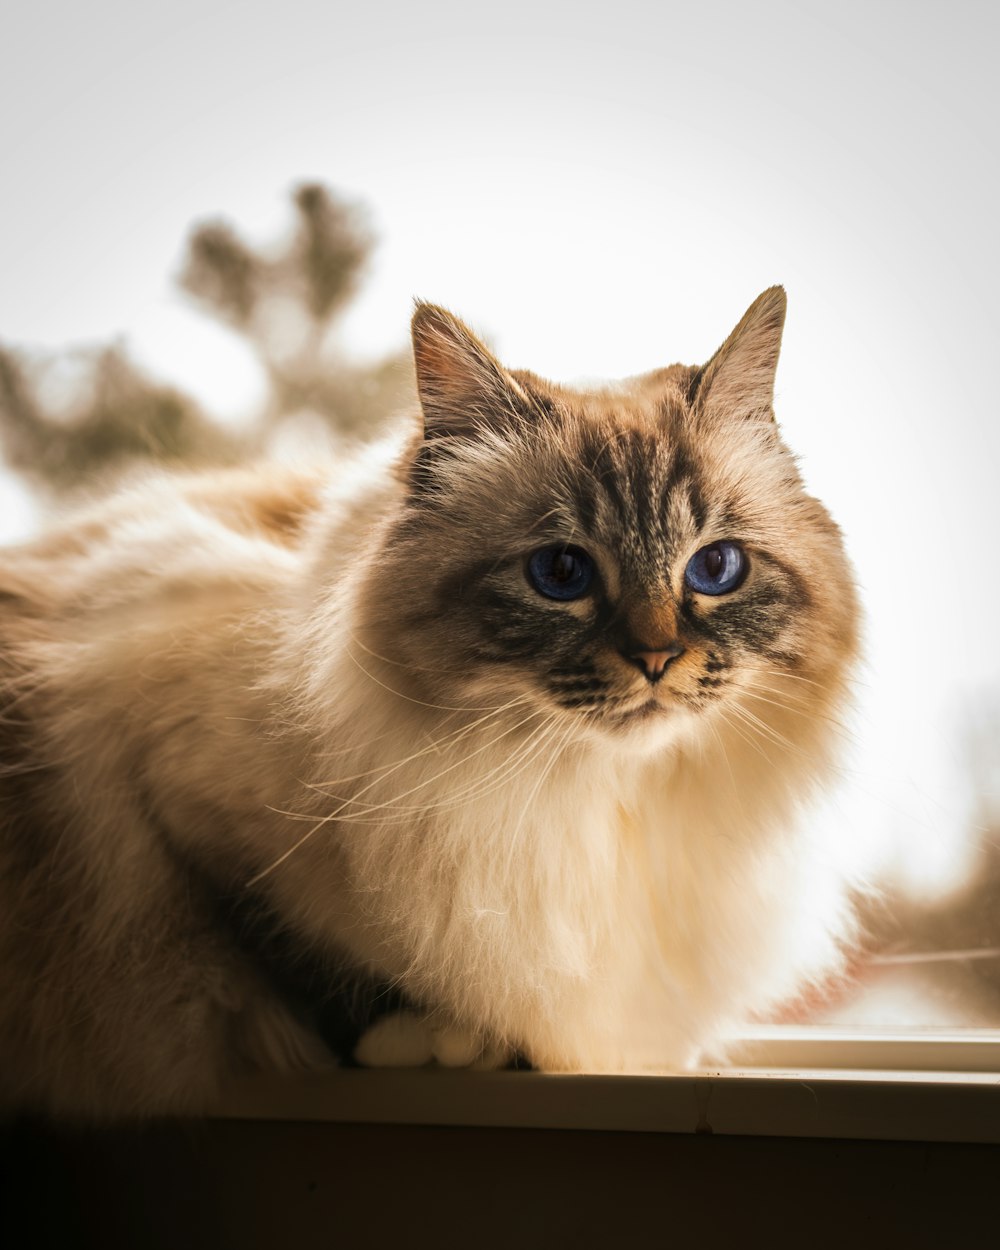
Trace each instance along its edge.
<path fill-rule="evenodd" d="M 739 1066 L 670 1076 L 404 1069 L 258 1078 L 234 1085 L 216 1114 L 339 1124 L 1000 1142 L 1000 1032 L 850 1036 L 761 1029 L 739 1046 Z M 799 1062 L 786 1062 L 792 1058 Z"/>

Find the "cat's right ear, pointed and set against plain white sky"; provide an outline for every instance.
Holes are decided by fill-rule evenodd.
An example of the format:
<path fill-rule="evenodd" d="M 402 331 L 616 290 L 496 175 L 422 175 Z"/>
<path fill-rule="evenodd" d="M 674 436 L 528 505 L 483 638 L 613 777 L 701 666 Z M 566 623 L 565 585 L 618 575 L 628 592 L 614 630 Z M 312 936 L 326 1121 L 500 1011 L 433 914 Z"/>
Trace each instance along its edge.
<path fill-rule="evenodd" d="M 786 308 L 782 286 L 770 286 L 691 381 L 696 411 L 774 421 L 774 378 Z"/>

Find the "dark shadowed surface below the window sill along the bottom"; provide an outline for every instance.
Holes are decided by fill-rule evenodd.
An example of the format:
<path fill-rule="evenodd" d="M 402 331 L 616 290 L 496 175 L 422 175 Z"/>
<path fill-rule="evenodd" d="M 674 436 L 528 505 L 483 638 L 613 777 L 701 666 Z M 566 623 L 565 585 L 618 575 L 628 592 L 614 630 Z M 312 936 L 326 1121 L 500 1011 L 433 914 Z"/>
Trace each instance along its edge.
<path fill-rule="evenodd" d="M 1000 1146 L 285 1122 L 19 1125 L 8 1246 L 995 1245 Z"/>

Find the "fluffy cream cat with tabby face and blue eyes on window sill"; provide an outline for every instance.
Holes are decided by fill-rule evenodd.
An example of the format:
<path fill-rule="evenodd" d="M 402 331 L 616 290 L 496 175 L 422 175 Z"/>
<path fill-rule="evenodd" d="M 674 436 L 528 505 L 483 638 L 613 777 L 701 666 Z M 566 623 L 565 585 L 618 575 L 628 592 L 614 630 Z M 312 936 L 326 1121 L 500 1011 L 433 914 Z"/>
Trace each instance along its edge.
<path fill-rule="evenodd" d="M 572 389 L 421 302 L 421 421 L 0 555 L 2 1104 L 681 1070 L 838 966 L 801 809 L 859 609 L 775 422 L 784 318 Z"/>

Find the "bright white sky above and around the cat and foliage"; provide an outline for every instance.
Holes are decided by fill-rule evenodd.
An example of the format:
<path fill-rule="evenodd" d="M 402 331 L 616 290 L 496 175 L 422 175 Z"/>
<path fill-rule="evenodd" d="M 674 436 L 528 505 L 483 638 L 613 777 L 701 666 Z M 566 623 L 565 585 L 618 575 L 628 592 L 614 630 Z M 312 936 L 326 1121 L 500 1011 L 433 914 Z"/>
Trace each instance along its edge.
<path fill-rule="evenodd" d="M 349 345 L 411 298 L 556 379 L 704 360 L 765 286 L 778 412 L 869 614 L 830 818 L 935 874 L 961 718 L 1000 699 L 998 8 L 32 0 L 4 18 L 0 339 L 124 336 L 226 416 L 260 381 L 171 286 L 190 224 L 266 239 L 322 180 L 381 236 Z M 0 534 L 26 504 L 0 490 Z"/>

